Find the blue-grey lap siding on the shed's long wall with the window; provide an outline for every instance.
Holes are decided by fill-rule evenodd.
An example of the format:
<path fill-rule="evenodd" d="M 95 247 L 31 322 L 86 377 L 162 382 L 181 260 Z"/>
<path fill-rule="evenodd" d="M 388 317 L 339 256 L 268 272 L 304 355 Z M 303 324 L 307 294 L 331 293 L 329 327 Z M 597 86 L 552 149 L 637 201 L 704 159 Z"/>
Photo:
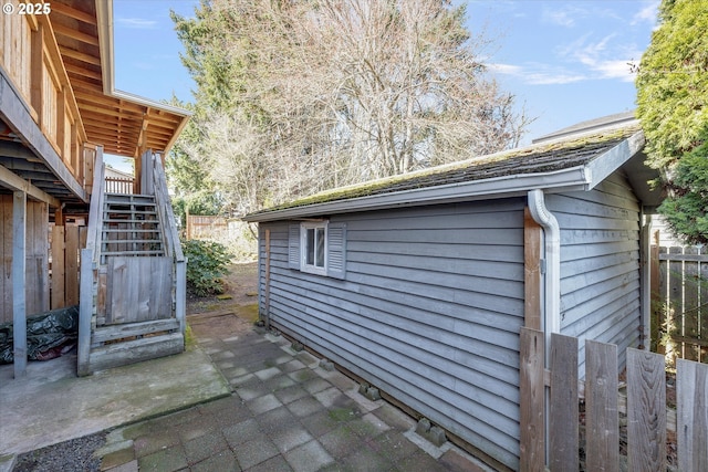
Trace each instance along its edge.
<path fill-rule="evenodd" d="M 344 280 L 288 269 L 289 222 L 261 223 L 272 323 L 518 468 L 523 200 L 330 221 L 346 222 Z"/>

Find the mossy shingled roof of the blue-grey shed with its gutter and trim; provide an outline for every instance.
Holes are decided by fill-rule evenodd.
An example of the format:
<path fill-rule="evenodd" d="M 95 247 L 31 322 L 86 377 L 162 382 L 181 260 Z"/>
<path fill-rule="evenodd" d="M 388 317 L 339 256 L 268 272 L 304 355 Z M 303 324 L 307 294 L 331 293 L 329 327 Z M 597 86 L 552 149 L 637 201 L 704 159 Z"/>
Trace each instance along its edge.
<path fill-rule="evenodd" d="M 342 187 L 246 216 L 274 221 L 402 206 L 525 196 L 531 189 L 591 190 L 621 167 L 645 204 L 660 201 L 649 188 L 656 171 L 644 165 L 644 133 L 633 120 L 566 139 L 400 176 Z"/>

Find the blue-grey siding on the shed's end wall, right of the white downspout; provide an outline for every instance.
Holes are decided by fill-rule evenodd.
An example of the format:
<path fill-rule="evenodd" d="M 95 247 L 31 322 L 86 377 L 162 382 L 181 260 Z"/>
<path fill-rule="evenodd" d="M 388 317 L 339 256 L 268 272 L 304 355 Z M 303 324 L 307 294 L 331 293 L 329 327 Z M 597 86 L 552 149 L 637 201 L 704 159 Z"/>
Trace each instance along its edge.
<path fill-rule="evenodd" d="M 639 203 L 614 174 L 592 191 L 550 195 L 561 228 L 561 332 L 617 345 L 620 368 L 627 347 L 639 344 Z"/>

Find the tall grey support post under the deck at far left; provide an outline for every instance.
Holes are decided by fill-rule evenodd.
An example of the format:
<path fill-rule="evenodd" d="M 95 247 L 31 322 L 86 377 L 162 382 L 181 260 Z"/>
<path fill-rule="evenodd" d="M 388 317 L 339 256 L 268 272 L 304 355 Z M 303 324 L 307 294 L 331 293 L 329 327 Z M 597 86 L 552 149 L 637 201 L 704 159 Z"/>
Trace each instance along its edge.
<path fill-rule="evenodd" d="M 12 340 L 14 378 L 27 375 L 27 193 L 15 191 L 12 199 Z"/>

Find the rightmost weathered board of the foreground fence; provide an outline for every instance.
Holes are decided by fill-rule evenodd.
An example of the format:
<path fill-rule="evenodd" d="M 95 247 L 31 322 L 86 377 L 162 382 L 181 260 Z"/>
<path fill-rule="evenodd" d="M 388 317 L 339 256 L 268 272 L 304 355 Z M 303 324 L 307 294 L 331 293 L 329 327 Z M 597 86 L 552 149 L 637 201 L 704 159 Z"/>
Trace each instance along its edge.
<path fill-rule="evenodd" d="M 678 359 L 678 469 L 708 470 L 708 365 Z"/>

